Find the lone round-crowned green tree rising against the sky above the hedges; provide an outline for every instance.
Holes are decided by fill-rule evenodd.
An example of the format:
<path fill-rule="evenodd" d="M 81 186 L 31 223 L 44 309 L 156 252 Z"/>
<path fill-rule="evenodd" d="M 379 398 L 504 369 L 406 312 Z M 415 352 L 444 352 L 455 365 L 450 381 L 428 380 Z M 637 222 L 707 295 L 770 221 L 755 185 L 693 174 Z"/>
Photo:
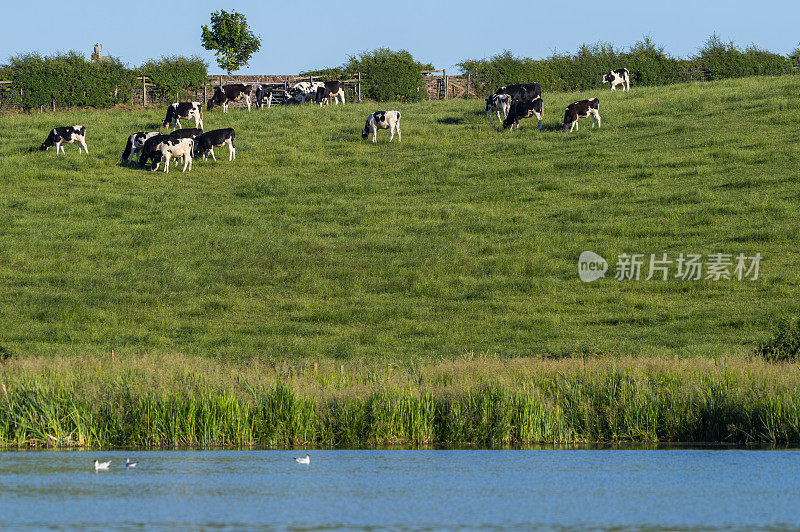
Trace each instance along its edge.
<path fill-rule="evenodd" d="M 261 39 L 250 30 L 244 15 L 235 10 L 211 13 L 211 28 L 203 26 L 202 29 L 203 48 L 215 50 L 217 64 L 228 74 L 247 66 L 261 48 Z"/>

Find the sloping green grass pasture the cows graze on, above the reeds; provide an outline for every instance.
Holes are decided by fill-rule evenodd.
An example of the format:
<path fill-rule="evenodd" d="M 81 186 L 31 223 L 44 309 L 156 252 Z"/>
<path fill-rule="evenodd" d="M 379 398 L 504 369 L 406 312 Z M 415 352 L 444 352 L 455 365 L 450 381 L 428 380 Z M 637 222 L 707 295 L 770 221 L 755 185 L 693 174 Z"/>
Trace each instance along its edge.
<path fill-rule="evenodd" d="M 237 160 L 119 165 L 163 110 L 0 116 L 0 345 L 287 358 L 747 352 L 797 313 L 797 77 L 481 101 L 234 110 Z M 603 127 L 557 130 L 599 96 Z M 83 124 L 91 153 L 29 152 Z M 577 259 L 761 253 L 757 281 L 582 283 Z"/>

